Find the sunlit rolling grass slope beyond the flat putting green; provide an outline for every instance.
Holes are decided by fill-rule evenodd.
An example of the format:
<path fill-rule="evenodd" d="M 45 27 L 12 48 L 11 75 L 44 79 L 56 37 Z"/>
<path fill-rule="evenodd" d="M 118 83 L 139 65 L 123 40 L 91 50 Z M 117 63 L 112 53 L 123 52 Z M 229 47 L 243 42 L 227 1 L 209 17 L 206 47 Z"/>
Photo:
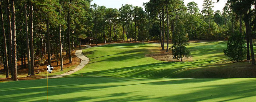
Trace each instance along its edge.
<path fill-rule="evenodd" d="M 158 44 L 104 45 L 83 50 L 91 61 L 76 74 L 119 78 L 250 77 L 232 71 L 251 65 L 249 62 L 230 63 L 223 54 L 226 46 L 225 41 L 192 43 L 188 48 L 192 51 L 193 61 L 165 62 L 145 57 L 145 54 L 159 52 L 159 50 L 150 50 L 159 47 Z"/>

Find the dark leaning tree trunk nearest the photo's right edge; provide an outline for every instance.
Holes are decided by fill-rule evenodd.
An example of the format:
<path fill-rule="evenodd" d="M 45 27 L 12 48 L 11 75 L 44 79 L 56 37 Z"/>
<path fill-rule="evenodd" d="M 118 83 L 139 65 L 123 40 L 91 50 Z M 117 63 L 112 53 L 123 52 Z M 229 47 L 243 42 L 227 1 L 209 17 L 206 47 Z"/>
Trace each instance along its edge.
<path fill-rule="evenodd" d="M 255 65 L 255 58 L 253 52 L 253 45 L 252 45 L 252 32 L 249 21 L 245 22 L 246 33 L 248 33 L 249 41 L 250 41 L 250 49 L 251 49 L 251 56 L 252 56 L 252 65 Z"/>

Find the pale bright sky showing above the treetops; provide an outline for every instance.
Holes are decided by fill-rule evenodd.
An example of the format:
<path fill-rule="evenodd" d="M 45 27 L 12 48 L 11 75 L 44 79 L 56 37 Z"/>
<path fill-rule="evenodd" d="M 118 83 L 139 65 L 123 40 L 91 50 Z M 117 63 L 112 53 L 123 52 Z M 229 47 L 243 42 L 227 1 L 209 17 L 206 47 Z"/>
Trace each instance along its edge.
<path fill-rule="evenodd" d="M 99 6 L 106 6 L 108 8 L 121 8 L 122 5 L 125 4 L 132 4 L 133 6 L 141 6 L 144 10 L 143 3 L 148 2 L 149 0 L 93 0 L 91 4 L 96 3 Z M 187 6 L 187 3 L 194 1 L 198 4 L 198 8 L 200 8 L 200 11 L 202 11 L 202 5 L 204 0 L 184 0 L 184 4 Z M 227 0 L 220 0 L 219 3 L 216 3 L 217 0 L 212 0 L 214 3 L 213 10 L 220 10 L 222 11 L 223 7 L 225 6 L 225 3 Z"/>

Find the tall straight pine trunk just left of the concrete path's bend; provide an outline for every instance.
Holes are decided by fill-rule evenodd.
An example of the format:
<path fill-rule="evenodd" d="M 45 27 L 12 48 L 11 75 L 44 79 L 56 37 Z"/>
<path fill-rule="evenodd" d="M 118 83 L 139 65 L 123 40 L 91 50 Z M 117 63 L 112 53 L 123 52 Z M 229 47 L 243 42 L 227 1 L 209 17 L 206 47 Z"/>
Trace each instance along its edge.
<path fill-rule="evenodd" d="M 68 11 L 68 44 L 69 44 L 69 63 L 72 63 L 71 45 L 70 45 L 70 11 Z"/>

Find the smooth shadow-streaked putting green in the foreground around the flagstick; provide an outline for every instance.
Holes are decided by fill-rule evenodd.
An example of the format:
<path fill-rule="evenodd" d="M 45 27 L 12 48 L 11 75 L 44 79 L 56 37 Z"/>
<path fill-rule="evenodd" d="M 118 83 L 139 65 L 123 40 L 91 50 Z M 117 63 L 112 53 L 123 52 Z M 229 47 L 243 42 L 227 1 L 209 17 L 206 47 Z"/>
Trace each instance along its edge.
<path fill-rule="evenodd" d="M 48 101 L 254 102 L 255 84 L 255 78 L 127 79 L 77 76 L 49 79 Z M 0 88 L 0 99 L 3 102 L 46 101 L 45 79 L 4 82 Z"/>

